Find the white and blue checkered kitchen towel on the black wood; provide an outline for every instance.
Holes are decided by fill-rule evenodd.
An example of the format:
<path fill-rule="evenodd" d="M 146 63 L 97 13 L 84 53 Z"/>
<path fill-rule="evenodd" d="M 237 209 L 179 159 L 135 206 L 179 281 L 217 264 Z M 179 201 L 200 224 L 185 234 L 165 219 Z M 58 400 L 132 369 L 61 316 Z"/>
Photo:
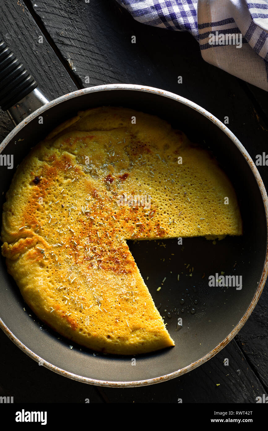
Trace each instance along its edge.
<path fill-rule="evenodd" d="M 137 21 L 189 31 L 202 57 L 268 91 L 268 0 L 117 0 Z"/>

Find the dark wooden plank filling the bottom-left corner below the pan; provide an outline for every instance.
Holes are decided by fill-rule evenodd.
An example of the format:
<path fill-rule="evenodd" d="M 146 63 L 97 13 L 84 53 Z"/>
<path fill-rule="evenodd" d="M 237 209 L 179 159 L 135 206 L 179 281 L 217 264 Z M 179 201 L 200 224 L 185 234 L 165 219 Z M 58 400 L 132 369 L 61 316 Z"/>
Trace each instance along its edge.
<path fill-rule="evenodd" d="M 56 374 L 35 362 L 0 331 L 2 396 L 14 403 L 103 403 L 98 390 Z"/>

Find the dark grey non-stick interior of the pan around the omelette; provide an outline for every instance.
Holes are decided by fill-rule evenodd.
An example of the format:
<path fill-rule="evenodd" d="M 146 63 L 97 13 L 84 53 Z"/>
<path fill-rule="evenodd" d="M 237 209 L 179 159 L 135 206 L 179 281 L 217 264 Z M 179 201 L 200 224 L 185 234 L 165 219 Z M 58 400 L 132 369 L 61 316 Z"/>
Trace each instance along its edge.
<path fill-rule="evenodd" d="M 40 322 L 24 303 L 15 281 L 7 274 L 3 257 L 0 262 L 0 317 L 24 346 L 67 373 L 111 384 L 147 381 L 200 360 L 216 349 L 243 319 L 256 294 L 265 265 L 265 208 L 250 165 L 222 128 L 177 100 L 157 93 L 118 89 L 66 99 L 44 112 L 43 125 L 38 123 L 37 116 L 18 131 L 2 152 L 13 154 L 14 168 L 3 167 L 0 170 L 3 187 L 1 207 L 15 168 L 33 143 L 37 144 L 56 125 L 76 115 L 77 111 L 103 105 L 125 106 L 157 115 L 185 132 L 191 141 L 211 150 L 237 193 L 243 236 L 226 237 L 217 240 L 216 244 L 203 237 L 184 238 L 182 244 L 178 244 L 177 239 L 128 241 L 154 303 L 176 343 L 173 348 L 136 356 L 135 366 L 131 357 L 94 353 L 73 344 Z M 222 272 L 225 276 L 242 277 L 242 288 L 210 287 L 209 275 L 216 278 Z M 161 290 L 157 291 L 159 286 Z M 182 319 L 182 325 L 178 325 L 178 319 Z"/>

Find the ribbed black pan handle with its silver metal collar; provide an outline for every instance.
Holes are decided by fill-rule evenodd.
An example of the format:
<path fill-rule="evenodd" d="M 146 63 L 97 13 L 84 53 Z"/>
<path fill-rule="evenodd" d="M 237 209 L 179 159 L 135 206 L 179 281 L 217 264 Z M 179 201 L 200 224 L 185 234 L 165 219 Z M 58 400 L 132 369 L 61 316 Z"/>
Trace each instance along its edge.
<path fill-rule="evenodd" d="M 0 37 L 0 106 L 15 125 L 49 102 L 37 85 Z"/>

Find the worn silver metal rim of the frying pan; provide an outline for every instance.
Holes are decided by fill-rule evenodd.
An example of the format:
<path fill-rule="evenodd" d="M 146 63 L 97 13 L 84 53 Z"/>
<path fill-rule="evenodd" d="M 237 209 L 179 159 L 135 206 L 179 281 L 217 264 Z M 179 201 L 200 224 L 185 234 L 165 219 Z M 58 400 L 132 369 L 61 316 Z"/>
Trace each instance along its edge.
<path fill-rule="evenodd" d="M 268 228 L 268 197 L 265 190 L 265 186 L 263 184 L 262 178 L 259 174 L 258 169 L 255 166 L 255 163 L 253 162 L 253 159 L 250 157 L 249 153 L 246 151 L 245 147 L 241 144 L 241 142 L 237 139 L 237 137 L 229 130 L 226 125 L 224 125 L 219 119 L 217 119 L 215 116 L 213 116 L 210 112 L 208 112 L 206 109 L 203 109 L 201 106 L 197 105 L 197 103 L 192 102 L 191 100 L 188 100 L 182 96 L 179 96 L 178 94 L 171 93 L 169 91 L 161 90 L 159 88 L 155 87 L 149 87 L 149 86 L 142 86 L 137 84 L 107 84 L 107 85 L 98 85 L 94 87 L 87 87 L 83 88 L 81 90 L 76 90 L 71 93 L 65 94 L 64 96 L 58 97 L 55 100 L 52 100 L 49 103 L 46 103 L 45 105 L 41 106 L 36 111 L 32 112 L 26 119 L 24 119 L 22 122 L 20 122 L 15 128 L 7 135 L 7 137 L 3 140 L 3 142 L 0 144 L 0 153 L 3 151 L 3 149 L 6 147 L 6 145 L 9 143 L 9 141 L 15 137 L 15 135 L 20 131 L 25 125 L 27 125 L 31 120 L 33 120 L 35 117 L 39 116 L 42 112 L 45 112 L 47 109 L 49 109 L 52 106 L 55 106 L 59 103 L 64 102 L 65 100 L 72 99 L 74 97 L 78 97 L 83 94 L 88 93 L 95 93 L 98 91 L 111 91 L 111 90 L 131 90 L 131 91 L 142 91 L 145 93 L 151 93 L 160 95 L 163 97 L 167 97 L 169 99 L 173 99 L 179 103 L 182 103 L 186 106 L 189 106 L 190 108 L 196 110 L 201 115 L 209 119 L 211 122 L 213 122 L 217 127 L 221 128 L 222 131 L 231 139 L 232 143 L 238 148 L 240 153 L 244 156 L 246 159 L 246 162 L 251 168 L 251 171 L 253 172 L 253 175 L 257 181 L 259 191 L 262 196 L 262 202 L 264 204 L 265 209 L 265 216 L 266 216 L 266 228 Z M 267 244 L 268 245 L 268 244 Z M 60 375 L 63 375 L 65 377 L 71 378 L 73 380 L 77 380 L 83 383 L 97 385 L 97 386 L 105 386 L 105 387 L 136 387 L 136 386 L 146 386 L 150 384 L 156 384 L 163 381 L 170 380 L 172 378 L 176 378 L 180 375 L 183 375 L 198 366 L 202 365 L 207 360 L 211 359 L 213 356 L 215 356 L 217 353 L 219 353 L 220 350 L 223 349 L 233 338 L 234 336 L 240 331 L 240 329 L 243 327 L 243 325 L 246 323 L 247 319 L 250 317 L 251 313 L 253 312 L 253 309 L 255 308 L 259 297 L 262 293 L 262 290 L 265 285 L 265 281 L 268 275 L 268 247 L 266 248 L 266 256 L 265 256 L 265 264 L 262 271 L 262 277 L 259 282 L 259 286 L 256 290 L 256 293 L 253 297 L 253 300 L 250 303 L 250 306 L 248 307 L 246 313 L 243 315 L 243 317 L 240 319 L 238 324 L 235 326 L 235 328 L 231 331 L 231 333 L 221 342 L 219 343 L 213 350 L 211 350 L 209 353 L 207 353 L 202 358 L 198 359 L 195 362 L 192 362 L 190 365 L 183 369 L 178 369 L 177 371 L 174 371 L 172 373 L 169 373 L 167 375 L 162 375 L 157 378 L 150 378 L 146 380 L 141 381 L 103 381 L 103 380 L 97 380 L 93 378 L 83 377 L 71 372 L 68 372 L 66 370 L 63 370 L 50 362 L 47 362 L 40 356 L 38 356 L 36 353 L 34 353 L 32 350 L 30 350 L 27 346 L 25 346 L 20 340 L 18 340 L 17 337 L 12 333 L 12 331 L 9 330 L 9 328 L 5 325 L 2 319 L 0 319 L 0 327 L 5 332 L 5 334 L 9 337 L 10 340 L 12 340 L 22 351 L 24 351 L 28 356 L 30 356 L 32 359 L 34 359 L 37 362 L 42 362 L 42 365 L 45 366 L 47 369 L 50 369 L 51 371 L 54 371 Z"/>

